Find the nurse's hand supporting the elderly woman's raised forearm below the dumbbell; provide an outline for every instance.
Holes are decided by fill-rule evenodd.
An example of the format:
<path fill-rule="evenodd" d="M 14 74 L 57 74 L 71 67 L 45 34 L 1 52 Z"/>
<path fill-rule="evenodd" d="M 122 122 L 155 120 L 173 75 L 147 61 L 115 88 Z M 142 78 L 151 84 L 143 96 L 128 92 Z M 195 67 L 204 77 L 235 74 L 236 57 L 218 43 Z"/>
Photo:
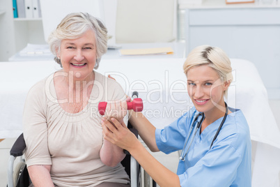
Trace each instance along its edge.
<path fill-rule="evenodd" d="M 134 149 L 135 145 L 139 143 L 137 137 L 125 126 L 123 121 L 120 123 L 115 118 L 110 120 L 111 122 L 102 118 L 104 139 L 127 151 Z"/>

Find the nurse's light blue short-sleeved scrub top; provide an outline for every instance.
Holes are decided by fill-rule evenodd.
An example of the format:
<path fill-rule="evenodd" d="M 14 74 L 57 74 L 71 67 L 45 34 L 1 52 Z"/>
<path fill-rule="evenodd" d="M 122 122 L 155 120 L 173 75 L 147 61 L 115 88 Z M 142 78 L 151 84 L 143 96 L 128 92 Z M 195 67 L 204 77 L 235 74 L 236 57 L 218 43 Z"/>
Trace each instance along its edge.
<path fill-rule="evenodd" d="M 241 110 L 229 110 L 232 113 L 226 117 L 211 149 L 210 144 L 223 117 L 207 126 L 201 134 L 200 129 L 197 131 L 185 161 L 179 161 L 177 174 L 181 186 L 251 186 L 249 126 Z M 198 113 L 193 107 L 164 129 L 156 129 L 155 140 L 160 151 L 170 154 L 182 150 Z M 194 132 L 192 130 L 185 151 Z"/>

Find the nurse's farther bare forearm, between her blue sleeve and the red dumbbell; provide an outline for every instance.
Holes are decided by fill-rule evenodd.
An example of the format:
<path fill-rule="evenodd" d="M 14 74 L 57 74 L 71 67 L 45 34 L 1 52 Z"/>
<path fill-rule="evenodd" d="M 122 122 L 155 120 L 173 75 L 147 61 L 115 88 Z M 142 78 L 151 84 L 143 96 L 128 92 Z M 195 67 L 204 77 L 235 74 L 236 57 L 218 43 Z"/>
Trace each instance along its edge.
<path fill-rule="evenodd" d="M 130 123 L 138 130 L 139 135 L 150 151 L 160 151 L 155 142 L 155 126 L 141 112 L 132 111 L 130 114 Z"/>

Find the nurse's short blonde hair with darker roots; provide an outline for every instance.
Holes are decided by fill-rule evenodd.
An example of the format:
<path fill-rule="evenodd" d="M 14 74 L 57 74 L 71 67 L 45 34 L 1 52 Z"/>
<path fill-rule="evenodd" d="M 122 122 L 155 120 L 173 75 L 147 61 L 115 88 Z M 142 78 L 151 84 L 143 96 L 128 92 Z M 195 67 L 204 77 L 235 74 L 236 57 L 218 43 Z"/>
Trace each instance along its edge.
<path fill-rule="evenodd" d="M 184 73 L 187 76 L 187 71 L 189 69 L 203 65 L 207 65 L 215 70 L 224 82 L 232 82 L 233 74 L 231 61 L 221 48 L 211 47 L 209 45 L 201 45 L 194 48 L 187 56 L 183 65 Z M 224 91 L 224 97 L 228 97 L 227 89 Z"/>

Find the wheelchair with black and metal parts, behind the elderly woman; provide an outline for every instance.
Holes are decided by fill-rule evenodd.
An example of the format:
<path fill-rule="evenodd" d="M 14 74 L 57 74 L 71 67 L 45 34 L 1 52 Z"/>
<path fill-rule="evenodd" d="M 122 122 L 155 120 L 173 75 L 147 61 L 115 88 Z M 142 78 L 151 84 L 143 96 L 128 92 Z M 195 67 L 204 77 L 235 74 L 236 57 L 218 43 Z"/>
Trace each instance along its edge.
<path fill-rule="evenodd" d="M 138 98 L 137 91 L 132 93 L 132 98 Z M 138 138 L 138 131 L 135 128 L 132 128 L 132 125 L 129 121 L 127 123 L 127 128 L 129 128 Z M 8 187 L 28 187 L 31 184 L 26 163 L 24 158 L 22 158 L 25 148 L 26 144 L 24 141 L 24 135 L 22 133 L 13 144 L 12 149 L 10 149 L 10 158 L 8 160 Z M 127 172 L 127 175 L 130 177 L 130 186 L 140 187 L 141 166 L 128 151 L 124 150 L 124 153 L 126 156 L 120 163 L 123 165 L 123 167 L 125 167 L 125 172 Z M 21 157 L 20 163 L 17 163 L 14 170 L 15 159 L 19 156 Z"/>

